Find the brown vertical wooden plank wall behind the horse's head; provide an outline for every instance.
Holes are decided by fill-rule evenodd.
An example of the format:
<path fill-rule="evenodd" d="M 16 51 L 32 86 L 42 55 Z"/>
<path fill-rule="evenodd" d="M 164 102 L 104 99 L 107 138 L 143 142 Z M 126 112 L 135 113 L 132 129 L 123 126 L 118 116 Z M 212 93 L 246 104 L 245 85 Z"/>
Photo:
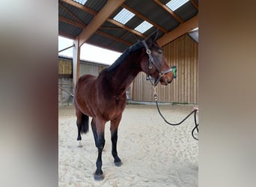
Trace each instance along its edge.
<path fill-rule="evenodd" d="M 185 34 L 163 46 L 170 66 L 177 66 L 177 79 L 168 86 L 157 85 L 159 102 L 198 103 L 198 43 Z M 153 87 L 139 73 L 132 84 L 132 100 L 153 102 Z"/>

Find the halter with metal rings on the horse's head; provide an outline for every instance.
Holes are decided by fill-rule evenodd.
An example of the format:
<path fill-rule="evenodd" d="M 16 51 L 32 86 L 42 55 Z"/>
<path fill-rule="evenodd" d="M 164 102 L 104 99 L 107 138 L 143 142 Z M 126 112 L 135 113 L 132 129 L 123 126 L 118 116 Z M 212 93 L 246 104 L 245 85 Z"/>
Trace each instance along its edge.
<path fill-rule="evenodd" d="M 172 72 L 172 69 L 168 69 L 165 71 L 161 71 L 159 70 L 159 68 L 156 66 L 155 61 L 153 60 L 153 56 L 151 55 L 151 51 L 147 46 L 147 43 L 145 40 L 142 41 L 142 43 L 144 44 L 144 47 L 146 49 L 147 55 L 148 55 L 148 72 L 147 72 L 147 80 L 150 81 L 150 83 L 153 86 L 156 86 L 158 84 L 158 82 L 160 81 L 160 79 L 162 78 L 162 76 L 164 76 L 166 73 Z M 153 77 L 150 76 L 149 71 L 152 69 L 151 64 L 153 64 L 153 66 L 156 68 L 156 71 L 159 73 L 159 76 L 157 79 L 154 79 Z M 155 82 L 152 82 L 152 79 L 155 80 Z"/>

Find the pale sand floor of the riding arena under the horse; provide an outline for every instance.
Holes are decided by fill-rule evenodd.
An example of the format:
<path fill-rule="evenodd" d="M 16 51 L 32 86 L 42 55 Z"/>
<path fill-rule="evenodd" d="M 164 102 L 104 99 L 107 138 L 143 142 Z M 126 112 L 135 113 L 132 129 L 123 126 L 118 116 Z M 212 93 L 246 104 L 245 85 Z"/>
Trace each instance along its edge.
<path fill-rule="evenodd" d="M 193 105 L 160 108 L 170 122 L 177 123 L 193 110 Z M 105 178 L 100 182 L 93 177 L 97 148 L 91 126 L 82 135 L 83 147 L 78 147 L 75 109 L 60 107 L 58 115 L 59 186 L 198 186 L 198 141 L 191 135 L 193 115 L 180 126 L 169 126 L 156 105 L 127 105 L 118 129 L 118 156 L 123 165 L 114 165 L 107 123 Z"/>

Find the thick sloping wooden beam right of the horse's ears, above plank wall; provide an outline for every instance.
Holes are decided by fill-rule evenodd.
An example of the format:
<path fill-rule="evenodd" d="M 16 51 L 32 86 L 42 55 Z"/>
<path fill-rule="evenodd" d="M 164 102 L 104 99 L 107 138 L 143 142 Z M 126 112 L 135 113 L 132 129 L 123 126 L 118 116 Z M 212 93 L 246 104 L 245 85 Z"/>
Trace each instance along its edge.
<path fill-rule="evenodd" d="M 167 34 L 164 34 L 162 37 L 156 40 L 156 42 L 159 44 L 159 46 L 165 46 L 167 43 L 170 43 L 172 40 L 175 40 L 177 37 L 180 37 L 181 35 L 186 34 L 187 32 L 197 27 L 198 27 L 198 14 L 192 17 L 192 19 L 189 19 L 186 22 L 180 23 L 180 25 L 177 28 L 174 28 L 174 30 L 168 32 Z"/>

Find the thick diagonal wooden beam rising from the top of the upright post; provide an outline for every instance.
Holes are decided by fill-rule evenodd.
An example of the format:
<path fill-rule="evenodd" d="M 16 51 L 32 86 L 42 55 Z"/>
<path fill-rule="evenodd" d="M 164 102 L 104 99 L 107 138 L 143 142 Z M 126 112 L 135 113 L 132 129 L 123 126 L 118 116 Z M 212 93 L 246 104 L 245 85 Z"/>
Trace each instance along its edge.
<path fill-rule="evenodd" d="M 91 23 L 82 31 L 81 34 L 79 34 L 79 46 L 82 46 L 82 44 L 85 43 L 85 41 L 88 40 L 91 35 L 94 34 L 97 29 L 103 25 L 104 22 L 106 22 L 107 19 L 109 19 L 109 16 L 111 16 L 112 13 L 115 12 L 115 10 L 117 10 L 118 7 L 124 3 L 124 1 L 125 0 L 107 1 L 102 10 L 100 10 L 100 12 L 94 16 L 94 19 L 91 21 Z"/>

